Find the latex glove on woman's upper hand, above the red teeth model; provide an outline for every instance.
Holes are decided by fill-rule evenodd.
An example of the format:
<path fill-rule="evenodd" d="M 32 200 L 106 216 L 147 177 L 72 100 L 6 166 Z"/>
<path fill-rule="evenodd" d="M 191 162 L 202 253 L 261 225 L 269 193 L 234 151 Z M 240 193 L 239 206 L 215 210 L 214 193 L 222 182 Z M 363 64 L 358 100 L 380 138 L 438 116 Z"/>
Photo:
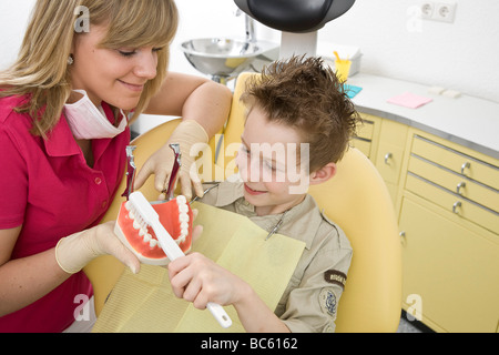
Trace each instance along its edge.
<path fill-rule="evenodd" d="M 151 174 L 155 174 L 154 186 L 157 191 L 163 192 L 167 187 L 174 163 L 174 153 L 170 144 L 180 144 L 182 168 L 179 172 L 177 182 L 181 184 L 182 194 L 190 201 L 193 186 L 196 195 L 203 196 L 203 186 L 197 169 L 195 169 L 196 156 L 191 156 L 191 148 L 196 143 L 207 142 L 208 135 L 201 124 L 194 120 L 182 121 L 172 133 L 169 142 L 145 162 L 135 178 L 135 190 L 139 190 Z M 164 200 L 164 193 L 159 199 Z"/>

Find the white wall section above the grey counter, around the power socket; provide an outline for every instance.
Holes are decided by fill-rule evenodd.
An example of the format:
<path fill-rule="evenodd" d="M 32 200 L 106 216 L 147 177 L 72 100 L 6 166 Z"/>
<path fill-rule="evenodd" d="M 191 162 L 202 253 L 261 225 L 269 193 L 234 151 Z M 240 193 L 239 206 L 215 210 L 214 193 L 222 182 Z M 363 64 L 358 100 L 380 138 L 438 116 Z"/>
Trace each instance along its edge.
<path fill-rule="evenodd" d="M 449 24 L 416 22 L 410 8 L 421 0 L 357 0 L 320 38 L 360 45 L 365 72 L 499 102 L 499 1 L 454 1 Z"/>

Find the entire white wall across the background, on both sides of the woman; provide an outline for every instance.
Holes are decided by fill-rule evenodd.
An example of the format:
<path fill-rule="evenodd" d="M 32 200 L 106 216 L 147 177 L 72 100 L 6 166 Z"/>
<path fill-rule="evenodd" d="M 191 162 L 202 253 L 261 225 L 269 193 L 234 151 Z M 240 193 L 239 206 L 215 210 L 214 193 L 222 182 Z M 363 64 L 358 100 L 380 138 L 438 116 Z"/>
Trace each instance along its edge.
<path fill-rule="evenodd" d="M 421 0 L 357 0 L 348 13 L 319 32 L 319 40 L 360 47 L 364 72 L 451 88 L 499 102 L 499 1 L 454 1 L 457 16 L 448 24 L 417 21 L 411 7 Z M 16 58 L 33 3 L 0 1 L 0 68 Z M 181 27 L 172 49 L 172 70 L 197 73 L 177 50 L 185 39 L 244 37 L 244 19 L 234 16 L 233 0 L 176 3 Z M 279 40 L 276 31 L 262 26 L 257 32 L 259 38 Z"/>

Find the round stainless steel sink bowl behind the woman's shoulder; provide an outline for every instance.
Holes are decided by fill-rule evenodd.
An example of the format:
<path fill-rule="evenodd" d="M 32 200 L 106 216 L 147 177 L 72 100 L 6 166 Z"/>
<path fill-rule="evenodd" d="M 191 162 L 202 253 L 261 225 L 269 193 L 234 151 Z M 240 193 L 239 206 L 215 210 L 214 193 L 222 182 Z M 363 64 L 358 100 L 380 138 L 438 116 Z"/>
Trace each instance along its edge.
<path fill-rule="evenodd" d="M 277 59 L 276 52 L 278 55 L 276 43 L 226 38 L 190 40 L 181 44 L 181 50 L 196 70 L 222 83 L 249 68 L 255 59 L 272 62 Z"/>

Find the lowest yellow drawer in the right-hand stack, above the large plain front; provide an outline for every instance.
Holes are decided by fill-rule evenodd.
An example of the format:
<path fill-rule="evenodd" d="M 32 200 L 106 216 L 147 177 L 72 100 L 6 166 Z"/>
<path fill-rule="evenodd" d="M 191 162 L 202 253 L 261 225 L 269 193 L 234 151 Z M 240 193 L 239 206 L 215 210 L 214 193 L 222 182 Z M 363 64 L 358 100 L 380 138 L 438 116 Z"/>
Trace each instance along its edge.
<path fill-rule="evenodd" d="M 410 172 L 407 174 L 406 189 L 464 220 L 499 234 L 499 213 L 497 212 L 468 201 Z"/>

